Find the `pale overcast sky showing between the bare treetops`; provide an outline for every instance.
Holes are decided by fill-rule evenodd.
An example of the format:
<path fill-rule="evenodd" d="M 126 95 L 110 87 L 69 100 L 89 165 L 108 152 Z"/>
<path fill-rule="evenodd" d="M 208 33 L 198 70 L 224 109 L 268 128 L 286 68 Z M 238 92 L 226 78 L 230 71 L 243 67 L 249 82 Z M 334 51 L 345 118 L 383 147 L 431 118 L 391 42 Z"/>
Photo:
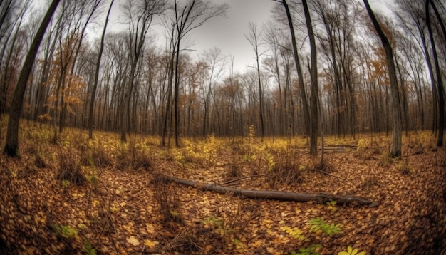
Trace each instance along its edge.
<path fill-rule="evenodd" d="M 38 0 L 39 5 L 42 1 L 48 0 Z M 126 29 L 128 26 L 125 24 L 119 24 L 120 5 L 126 0 L 115 0 L 113 4 L 112 13 L 110 14 L 110 22 L 108 24 L 108 31 Z M 206 0 L 204 0 L 206 1 Z M 229 68 L 229 54 L 234 56 L 234 69 L 243 72 L 247 65 L 254 66 L 254 51 L 251 45 L 245 38 L 245 34 L 249 34 L 248 24 L 253 22 L 257 24 L 257 29 L 260 30 L 266 21 L 271 19 L 271 9 L 276 2 L 272 0 L 209 0 L 214 4 L 229 4 L 229 9 L 227 10 L 227 17 L 214 17 L 199 28 L 190 32 L 190 40 L 193 42 L 192 46 L 188 48 L 195 50 L 191 51 L 192 56 L 197 56 L 204 50 L 209 50 L 211 48 L 217 47 L 222 50 L 222 53 L 228 56 L 227 63 Z M 331 1 L 331 0 L 327 0 Z M 362 0 L 358 0 L 361 1 Z M 385 7 L 388 3 L 385 0 L 369 0 L 370 5 L 375 11 L 383 11 L 387 8 Z M 103 14 L 98 18 L 98 23 L 103 24 L 103 19 L 105 19 L 106 11 L 110 0 L 105 2 Z M 43 7 L 43 9 L 45 9 Z M 387 9 L 388 11 L 388 9 Z M 122 16 L 121 16 L 122 20 Z M 164 38 L 164 28 L 160 25 L 152 25 L 152 33 L 157 36 L 158 43 L 161 47 L 165 46 Z M 96 28 L 93 33 L 98 35 L 102 31 L 101 28 Z M 195 39 L 194 39 L 195 38 Z M 187 41 L 186 41 L 187 43 Z M 183 45 L 187 46 L 187 45 Z"/>

